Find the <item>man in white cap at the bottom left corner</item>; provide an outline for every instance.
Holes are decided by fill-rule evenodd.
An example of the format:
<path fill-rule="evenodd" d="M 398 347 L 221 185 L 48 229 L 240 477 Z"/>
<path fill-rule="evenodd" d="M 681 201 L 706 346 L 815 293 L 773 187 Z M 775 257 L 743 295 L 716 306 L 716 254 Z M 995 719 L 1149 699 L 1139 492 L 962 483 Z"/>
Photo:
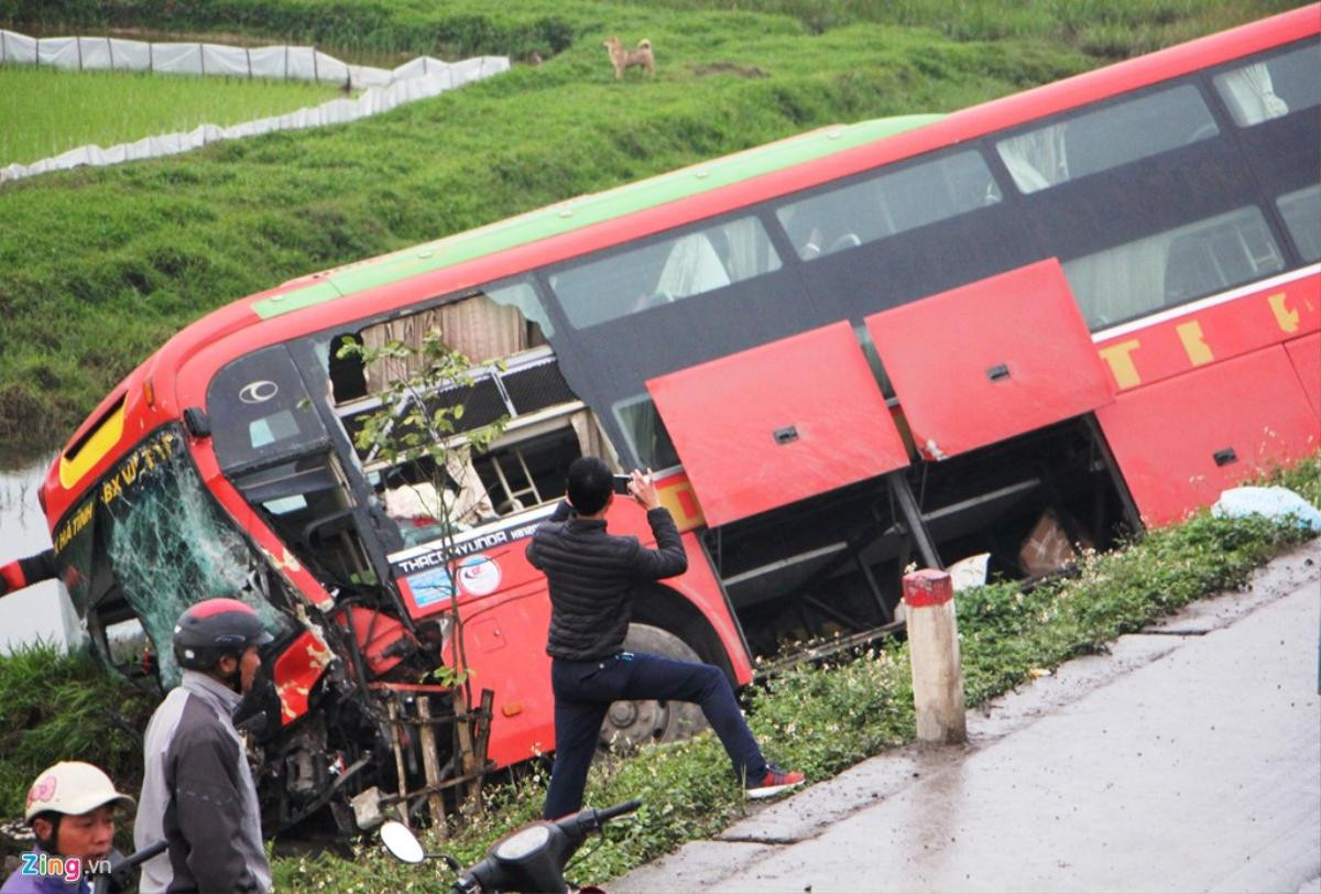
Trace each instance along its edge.
<path fill-rule="evenodd" d="M 99 767 L 63 761 L 44 770 L 28 790 L 24 813 L 37 849 L 24 857 L 0 894 L 87 894 L 89 866 L 110 856 L 116 807 L 131 811 L 136 802 L 115 791 Z M 61 858 L 58 873 L 50 872 L 50 857 Z"/>

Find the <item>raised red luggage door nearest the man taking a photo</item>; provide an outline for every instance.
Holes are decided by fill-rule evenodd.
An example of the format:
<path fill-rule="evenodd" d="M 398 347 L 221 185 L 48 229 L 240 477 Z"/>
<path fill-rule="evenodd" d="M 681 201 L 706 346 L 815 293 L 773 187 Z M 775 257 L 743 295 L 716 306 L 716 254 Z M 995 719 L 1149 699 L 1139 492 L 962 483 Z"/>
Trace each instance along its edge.
<path fill-rule="evenodd" d="M 651 379 L 647 390 L 712 526 L 909 464 L 847 322 Z"/>

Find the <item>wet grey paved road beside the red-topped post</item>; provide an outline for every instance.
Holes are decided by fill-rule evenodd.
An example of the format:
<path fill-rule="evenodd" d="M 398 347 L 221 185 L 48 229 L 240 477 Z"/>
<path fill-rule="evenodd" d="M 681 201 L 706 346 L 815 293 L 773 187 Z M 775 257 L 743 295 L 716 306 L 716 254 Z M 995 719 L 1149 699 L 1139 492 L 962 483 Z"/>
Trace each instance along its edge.
<path fill-rule="evenodd" d="M 1321 543 L 610 891 L 1321 893 Z"/>

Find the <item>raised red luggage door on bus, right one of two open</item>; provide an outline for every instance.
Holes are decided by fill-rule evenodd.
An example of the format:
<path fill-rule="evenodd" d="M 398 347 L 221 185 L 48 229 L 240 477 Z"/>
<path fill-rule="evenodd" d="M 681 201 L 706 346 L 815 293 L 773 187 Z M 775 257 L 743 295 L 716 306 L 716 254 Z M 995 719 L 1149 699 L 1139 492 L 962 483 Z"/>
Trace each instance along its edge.
<path fill-rule="evenodd" d="M 930 460 L 1114 400 L 1054 259 L 873 314 L 867 330 Z"/>

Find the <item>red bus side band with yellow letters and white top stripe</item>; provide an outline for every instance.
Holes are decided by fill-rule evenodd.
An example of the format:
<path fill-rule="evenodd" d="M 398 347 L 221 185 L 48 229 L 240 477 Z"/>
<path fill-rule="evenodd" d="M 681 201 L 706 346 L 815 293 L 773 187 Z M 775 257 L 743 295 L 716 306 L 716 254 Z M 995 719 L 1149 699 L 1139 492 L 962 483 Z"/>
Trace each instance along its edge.
<path fill-rule="evenodd" d="M 1096 333 L 1096 350 L 1127 391 L 1318 329 L 1321 273 L 1310 267 Z"/>

